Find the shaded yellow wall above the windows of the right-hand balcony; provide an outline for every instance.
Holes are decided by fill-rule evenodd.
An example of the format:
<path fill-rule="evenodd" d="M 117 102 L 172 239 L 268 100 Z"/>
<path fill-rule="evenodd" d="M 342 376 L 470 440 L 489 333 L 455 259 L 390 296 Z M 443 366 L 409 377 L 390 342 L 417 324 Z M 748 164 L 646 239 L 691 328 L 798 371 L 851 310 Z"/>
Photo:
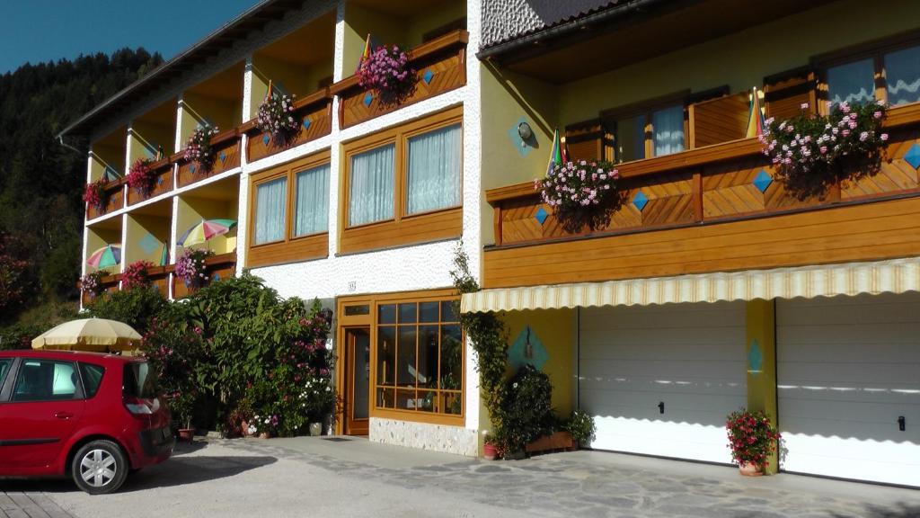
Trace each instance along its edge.
<path fill-rule="evenodd" d="M 892 0 L 884 7 L 859 0 L 803 11 L 717 40 L 563 85 L 560 125 L 597 117 L 607 108 L 641 102 L 684 88 L 730 92 L 761 86 L 765 76 L 808 65 L 817 54 L 916 29 L 920 3 Z M 483 105 L 483 112 L 487 112 Z"/>

